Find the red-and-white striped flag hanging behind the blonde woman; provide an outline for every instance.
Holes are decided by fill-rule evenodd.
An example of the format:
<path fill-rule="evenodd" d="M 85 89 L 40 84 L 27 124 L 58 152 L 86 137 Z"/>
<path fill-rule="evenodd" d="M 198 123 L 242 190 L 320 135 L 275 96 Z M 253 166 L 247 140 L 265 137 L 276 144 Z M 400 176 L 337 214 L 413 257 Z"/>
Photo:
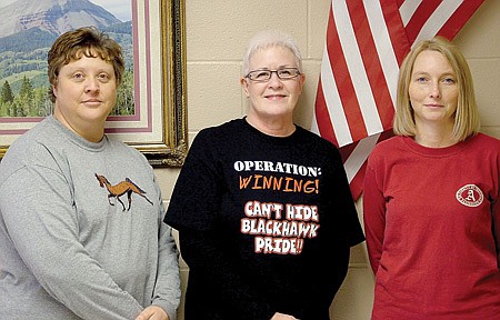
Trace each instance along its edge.
<path fill-rule="evenodd" d="M 368 154 L 392 136 L 404 56 L 421 39 L 452 39 L 482 2 L 332 0 L 311 131 L 340 148 L 354 200 Z"/>

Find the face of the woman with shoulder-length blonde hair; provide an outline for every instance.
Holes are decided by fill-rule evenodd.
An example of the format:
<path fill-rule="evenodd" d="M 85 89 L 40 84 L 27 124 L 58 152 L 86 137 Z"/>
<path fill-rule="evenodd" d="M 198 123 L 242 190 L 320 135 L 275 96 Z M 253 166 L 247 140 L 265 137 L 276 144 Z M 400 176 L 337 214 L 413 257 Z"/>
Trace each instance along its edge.
<path fill-rule="evenodd" d="M 459 88 L 446 57 L 433 50 L 417 56 L 408 89 L 417 128 L 429 123 L 453 127 Z"/>

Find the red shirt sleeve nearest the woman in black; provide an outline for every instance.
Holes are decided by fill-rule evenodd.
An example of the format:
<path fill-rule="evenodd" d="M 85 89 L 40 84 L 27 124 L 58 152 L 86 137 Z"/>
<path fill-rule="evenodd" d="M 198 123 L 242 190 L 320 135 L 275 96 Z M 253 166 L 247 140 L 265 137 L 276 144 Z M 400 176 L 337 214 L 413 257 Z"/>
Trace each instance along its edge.
<path fill-rule="evenodd" d="M 386 231 L 386 199 L 377 181 L 373 168 L 368 163 L 363 187 L 363 221 L 367 237 L 368 257 L 371 269 L 377 273 L 382 256 Z"/>

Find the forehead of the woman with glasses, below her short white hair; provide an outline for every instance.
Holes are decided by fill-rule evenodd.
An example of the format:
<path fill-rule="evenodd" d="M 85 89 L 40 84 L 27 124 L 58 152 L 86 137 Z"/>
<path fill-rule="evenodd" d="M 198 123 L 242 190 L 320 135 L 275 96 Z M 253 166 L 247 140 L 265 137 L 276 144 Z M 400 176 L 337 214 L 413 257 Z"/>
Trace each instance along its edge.
<path fill-rule="evenodd" d="M 296 56 L 287 47 L 271 46 L 259 49 L 250 57 L 250 68 L 297 67 Z"/>

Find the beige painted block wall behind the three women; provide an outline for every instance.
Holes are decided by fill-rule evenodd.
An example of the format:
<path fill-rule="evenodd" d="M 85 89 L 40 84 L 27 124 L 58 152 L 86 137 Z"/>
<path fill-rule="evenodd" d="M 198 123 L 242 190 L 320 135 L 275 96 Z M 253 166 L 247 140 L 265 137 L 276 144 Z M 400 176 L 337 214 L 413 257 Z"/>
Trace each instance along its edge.
<path fill-rule="evenodd" d="M 310 128 L 329 8 L 330 0 L 186 0 L 190 141 L 204 127 L 244 114 L 247 101 L 238 81 L 240 60 L 248 39 L 264 28 L 288 31 L 299 42 L 307 83 L 296 121 Z M 486 0 L 456 42 L 472 69 L 483 131 L 500 138 L 500 1 Z M 179 170 L 156 172 L 168 201 Z M 357 204 L 360 208 L 361 203 Z M 186 264 L 181 271 L 186 279 Z M 372 290 L 373 276 L 362 243 L 352 249 L 349 274 L 332 303 L 331 318 L 369 319 Z M 180 314 L 182 320 L 182 308 Z"/>

